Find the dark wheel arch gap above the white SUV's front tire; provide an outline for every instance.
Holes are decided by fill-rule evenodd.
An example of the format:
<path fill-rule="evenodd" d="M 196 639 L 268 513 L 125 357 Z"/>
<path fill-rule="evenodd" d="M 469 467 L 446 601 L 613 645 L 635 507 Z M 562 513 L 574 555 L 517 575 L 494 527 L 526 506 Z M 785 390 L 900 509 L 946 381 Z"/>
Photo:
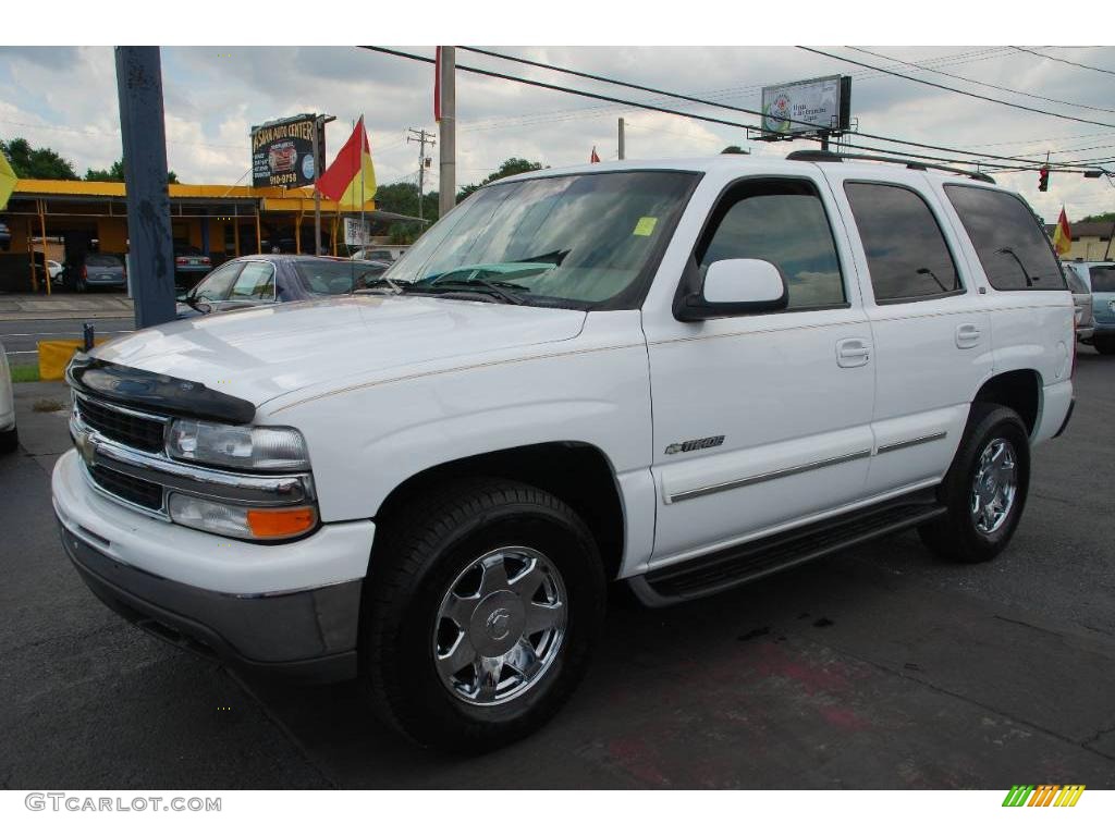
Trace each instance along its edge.
<path fill-rule="evenodd" d="M 407 477 L 376 509 L 377 523 L 434 485 L 463 477 L 498 477 L 546 490 L 575 511 L 592 531 L 604 573 L 619 575 L 626 516 L 615 469 L 599 447 L 583 441 L 546 441 L 465 456 Z"/>

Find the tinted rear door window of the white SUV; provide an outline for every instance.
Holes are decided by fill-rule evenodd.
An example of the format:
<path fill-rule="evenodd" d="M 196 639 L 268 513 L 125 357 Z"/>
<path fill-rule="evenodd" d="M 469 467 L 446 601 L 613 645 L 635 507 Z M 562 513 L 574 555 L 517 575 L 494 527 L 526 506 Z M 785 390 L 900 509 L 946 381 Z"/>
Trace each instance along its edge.
<path fill-rule="evenodd" d="M 921 195 L 883 183 L 845 183 L 844 193 L 876 302 L 917 302 L 961 290 L 952 253 Z"/>

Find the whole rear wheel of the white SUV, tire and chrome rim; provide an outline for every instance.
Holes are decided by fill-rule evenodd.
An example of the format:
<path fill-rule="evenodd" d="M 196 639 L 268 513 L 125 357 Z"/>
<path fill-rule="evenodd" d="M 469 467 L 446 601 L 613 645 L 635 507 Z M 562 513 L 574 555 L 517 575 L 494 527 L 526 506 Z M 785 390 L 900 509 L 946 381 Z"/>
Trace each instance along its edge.
<path fill-rule="evenodd" d="M 991 560 L 1018 527 L 1029 478 L 1029 437 L 1018 414 L 996 404 L 973 404 L 939 489 L 948 512 L 918 529 L 922 541 L 946 560 Z"/>

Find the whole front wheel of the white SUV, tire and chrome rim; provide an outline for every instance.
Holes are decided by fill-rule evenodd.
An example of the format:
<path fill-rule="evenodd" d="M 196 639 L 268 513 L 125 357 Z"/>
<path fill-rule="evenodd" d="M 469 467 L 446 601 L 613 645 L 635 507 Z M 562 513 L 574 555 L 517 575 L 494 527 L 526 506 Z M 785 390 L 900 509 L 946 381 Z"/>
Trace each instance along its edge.
<path fill-rule="evenodd" d="M 561 499 L 462 479 L 382 523 L 361 622 L 361 680 L 389 725 L 479 752 L 544 723 L 572 693 L 604 613 L 604 573 Z"/>

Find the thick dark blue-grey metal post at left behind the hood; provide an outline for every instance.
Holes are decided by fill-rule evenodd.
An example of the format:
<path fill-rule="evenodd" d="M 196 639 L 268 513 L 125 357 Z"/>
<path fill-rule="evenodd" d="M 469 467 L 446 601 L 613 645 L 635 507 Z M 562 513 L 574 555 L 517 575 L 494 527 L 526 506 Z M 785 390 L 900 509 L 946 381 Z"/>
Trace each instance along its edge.
<path fill-rule="evenodd" d="M 135 321 L 136 328 L 148 328 L 174 320 L 174 242 L 158 47 L 116 47 L 116 93 Z"/>

